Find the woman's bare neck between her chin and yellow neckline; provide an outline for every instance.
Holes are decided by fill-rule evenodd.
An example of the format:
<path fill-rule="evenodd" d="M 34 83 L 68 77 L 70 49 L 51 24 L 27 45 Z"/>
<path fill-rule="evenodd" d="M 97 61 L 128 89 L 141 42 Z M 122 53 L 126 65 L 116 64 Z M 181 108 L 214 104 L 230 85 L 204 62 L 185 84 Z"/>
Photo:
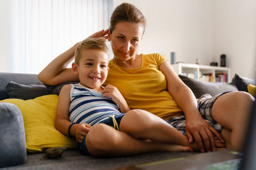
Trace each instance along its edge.
<path fill-rule="evenodd" d="M 140 55 L 136 55 L 136 56 L 134 56 L 134 57 L 132 57 L 131 59 L 128 59 L 128 60 L 118 60 L 114 56 L 113 61 L 115 61 L 115 63 L 118 66 L 125 67 L 127 69 L 138 69 L 138 68 L 140 68 L 142 66 L 141 54 Z"/>

